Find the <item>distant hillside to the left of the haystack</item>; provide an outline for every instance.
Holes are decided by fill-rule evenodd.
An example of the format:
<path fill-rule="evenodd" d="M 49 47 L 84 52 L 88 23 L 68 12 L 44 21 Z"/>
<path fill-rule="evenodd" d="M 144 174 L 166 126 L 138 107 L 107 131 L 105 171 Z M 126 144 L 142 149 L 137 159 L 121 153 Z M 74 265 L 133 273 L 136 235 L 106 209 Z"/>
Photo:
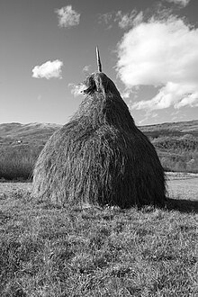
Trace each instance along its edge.
<path fill-rule="evenodd" d="M 40 150 L 59 127 L 43 123 L 0 124 L 0 177 L 30 178 Z"/>

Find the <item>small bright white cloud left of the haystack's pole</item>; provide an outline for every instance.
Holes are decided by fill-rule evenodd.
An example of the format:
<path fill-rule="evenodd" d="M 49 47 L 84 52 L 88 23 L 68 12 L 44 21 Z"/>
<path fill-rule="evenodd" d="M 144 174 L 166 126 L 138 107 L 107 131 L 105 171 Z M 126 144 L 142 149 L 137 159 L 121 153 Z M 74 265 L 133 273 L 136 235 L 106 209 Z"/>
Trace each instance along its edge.
<path fill-rule="evenodd" d="M 40 66 L 35 66 L 32 69 L 32 77 L 35 78 L 62 78 L 61 76 L 61 67 L 63 66 L 63 62 L 58 59 L 54 61 L 47 61 Z"/>

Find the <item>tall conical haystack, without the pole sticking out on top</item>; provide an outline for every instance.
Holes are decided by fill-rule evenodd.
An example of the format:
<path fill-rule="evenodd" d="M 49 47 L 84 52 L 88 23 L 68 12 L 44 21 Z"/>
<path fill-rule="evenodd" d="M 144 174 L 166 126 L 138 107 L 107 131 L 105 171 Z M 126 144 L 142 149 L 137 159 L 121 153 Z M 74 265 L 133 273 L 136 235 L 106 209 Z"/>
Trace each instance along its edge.
<path fill-rule="evenodd" d="M 165 175 L 148 138 L 103 73 L 88 76 L 85 99 L 55 132 L 34 168 L 34 195 L 64 205 L 164 205 Z"/>

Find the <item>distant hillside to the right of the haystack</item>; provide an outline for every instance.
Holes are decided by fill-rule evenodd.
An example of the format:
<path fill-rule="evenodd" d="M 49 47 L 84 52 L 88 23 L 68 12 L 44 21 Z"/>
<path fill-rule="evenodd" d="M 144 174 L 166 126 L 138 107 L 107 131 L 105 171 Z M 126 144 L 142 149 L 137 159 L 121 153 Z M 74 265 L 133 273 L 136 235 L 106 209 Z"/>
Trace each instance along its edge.
<path fill-rule="evenodd" d="M 166 171 L 198 173 L 198 121 L 144 126 Z"/>

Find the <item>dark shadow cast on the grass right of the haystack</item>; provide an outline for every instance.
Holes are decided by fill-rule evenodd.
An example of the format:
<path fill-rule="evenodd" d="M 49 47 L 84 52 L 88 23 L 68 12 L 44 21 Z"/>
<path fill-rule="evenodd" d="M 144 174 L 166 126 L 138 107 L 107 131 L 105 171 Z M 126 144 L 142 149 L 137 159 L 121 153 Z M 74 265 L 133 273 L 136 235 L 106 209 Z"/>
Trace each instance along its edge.
<path fill-rule="evenodd" d="M 198 201 L 167 198 L 166 209 L 168 211 L 198 213 Z"/>

